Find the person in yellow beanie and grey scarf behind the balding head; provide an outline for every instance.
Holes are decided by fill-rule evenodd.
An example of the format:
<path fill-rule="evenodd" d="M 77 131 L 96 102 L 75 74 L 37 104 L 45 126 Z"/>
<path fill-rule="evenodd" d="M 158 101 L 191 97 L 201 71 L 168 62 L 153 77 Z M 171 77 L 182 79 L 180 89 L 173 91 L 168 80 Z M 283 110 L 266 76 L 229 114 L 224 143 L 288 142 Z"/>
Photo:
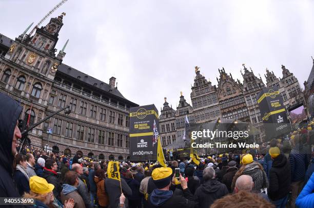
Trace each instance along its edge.
<path fill-rule="evenodd" d="M 252 177 L 254 182 L 253 191 L 261 192 L 261 190 L 268 188 L 268 178 L 262 165 L 254 161 L 251 154 L 244 155 L 241 161 L 242 166 L 233 177 L 231 190 L 234 190 L 235 182 L 240 175 L 249 175 Z"/>

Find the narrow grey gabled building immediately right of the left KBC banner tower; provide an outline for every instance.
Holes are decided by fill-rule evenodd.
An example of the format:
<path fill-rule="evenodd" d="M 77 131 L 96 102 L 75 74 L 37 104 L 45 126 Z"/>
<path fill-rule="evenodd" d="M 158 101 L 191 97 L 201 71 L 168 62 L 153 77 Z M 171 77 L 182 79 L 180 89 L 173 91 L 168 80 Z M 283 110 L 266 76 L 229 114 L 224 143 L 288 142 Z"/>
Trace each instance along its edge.
<path fill-rule="evenodd" d="M 166 146 L 172 144 L 176 140 L 176 127 L 175 127 L 175 110 L 167 103 L 165 97 L 164 107 L 161 110 L 159 117 L 160 123 L 160 138 L 162 139 L 162 145 Z"/>

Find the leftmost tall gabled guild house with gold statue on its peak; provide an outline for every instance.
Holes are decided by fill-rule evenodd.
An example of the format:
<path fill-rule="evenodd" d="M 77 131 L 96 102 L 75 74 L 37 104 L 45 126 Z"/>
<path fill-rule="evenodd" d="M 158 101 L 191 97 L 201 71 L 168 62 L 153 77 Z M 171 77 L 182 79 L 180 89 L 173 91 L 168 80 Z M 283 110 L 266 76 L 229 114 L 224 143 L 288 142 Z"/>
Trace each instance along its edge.
<path fill-rule="evenodd" d="M 191 101 L 196 123 L 215 120 L 220 117 L 220 108 L 217 98 L 217 88 L 212 86 L 201 75 L 199 67 L 195 66 L 194 84 L 191 87 Z"/>

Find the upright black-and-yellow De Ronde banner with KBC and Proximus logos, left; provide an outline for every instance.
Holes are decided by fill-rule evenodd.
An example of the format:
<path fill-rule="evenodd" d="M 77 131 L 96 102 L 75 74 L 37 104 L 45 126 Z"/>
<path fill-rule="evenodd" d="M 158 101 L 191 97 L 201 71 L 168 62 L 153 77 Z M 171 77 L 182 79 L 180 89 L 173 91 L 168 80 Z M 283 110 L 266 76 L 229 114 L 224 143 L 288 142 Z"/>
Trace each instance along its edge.
<path fill-rule="evenodd" d="M 153 104 L 130 109 L 131 160 L 155 160 L 158 134 L 159 116 Z"/>

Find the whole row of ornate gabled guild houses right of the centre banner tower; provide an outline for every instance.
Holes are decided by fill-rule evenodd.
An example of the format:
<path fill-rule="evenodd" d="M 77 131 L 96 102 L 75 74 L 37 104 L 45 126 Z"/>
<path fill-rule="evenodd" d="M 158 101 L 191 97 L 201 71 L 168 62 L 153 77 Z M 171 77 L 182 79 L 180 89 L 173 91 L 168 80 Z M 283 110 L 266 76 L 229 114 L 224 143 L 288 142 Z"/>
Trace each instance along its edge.
<path fill-rule="evenodd" d="M 266 86 L 279 88 L 287 113 L 290 108 L 302 103 L 305 105 L 298 79 L 284 65 L 282 65 L 282 78 L 277 78 L 266 68 L 266 84 L 263 83 L 261 76 L 254 75 L 252 69 L 248 70 L 244 64 L 243 70 L 240 71 L 243 83 L 240 80 L 235 81 L 231 73 L 227 74 L 224 68 L 218 71 L 218 86 L 215 86 L 210 80 L 206 80 L 199 67 L 195 66 L 196 76 L 190 94 L 192 105 L 185 101 L 182 94 L 176 110 L 165 100 L 159 120 L 160 136 L 164 147 L 175 140 L 182 140 L 185 115 L 188 115 L 190 123 L 206 123 L 219 118 L 251 123 L 257 128 L 254 135 L 256 142 L 263 142 L 265 130 L 256 97 Z M 314 70 L 312 69 L 311 72 Z M 309 81 L 305 82 L 306 89 L 311 88 L 309 83 L 314 80 L 312 77 L 314 76 L 309 76 Z"/>

